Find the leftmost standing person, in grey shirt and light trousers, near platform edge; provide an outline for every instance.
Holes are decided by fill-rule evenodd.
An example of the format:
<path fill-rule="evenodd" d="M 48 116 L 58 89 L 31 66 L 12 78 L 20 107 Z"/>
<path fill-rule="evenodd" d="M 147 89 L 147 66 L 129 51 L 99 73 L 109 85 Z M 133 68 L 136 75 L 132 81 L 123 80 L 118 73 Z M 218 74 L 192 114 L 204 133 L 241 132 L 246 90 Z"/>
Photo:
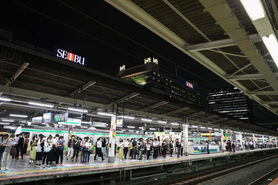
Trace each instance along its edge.
<path fill-rule="evenodd" d="M 10 151 L 12 149 L 12 147 L 14 146 L 14 134 L 10 135 L 10 138 L 7 139 L 6 141 L 4 141 L 3 146 L 5 147 L 4 152 L 3 152 L 3 158 L 2 158 L 2 162 L 1 162 L 1 171 L 4 170 L 10 170 L 9 169 L 9 160 L 10 160 Z M 6 163 L 6 164 L 4 164 Z M 5 167 L 4 167 L 5 166 Z"/>

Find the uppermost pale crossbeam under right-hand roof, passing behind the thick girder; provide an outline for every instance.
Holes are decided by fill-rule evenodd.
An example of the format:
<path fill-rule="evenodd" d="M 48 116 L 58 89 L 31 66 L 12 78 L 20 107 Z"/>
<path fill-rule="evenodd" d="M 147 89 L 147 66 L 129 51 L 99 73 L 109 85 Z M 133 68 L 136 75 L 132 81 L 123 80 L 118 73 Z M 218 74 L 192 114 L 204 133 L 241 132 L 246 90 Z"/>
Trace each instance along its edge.
<path fill-rule="evenodd" d="M 253 42 L 261 41 L 261 37 L 257 36 L 257 34 L 250 35 L 250 38 Z M 221 47 L 228 47 L 228 46 L 235 46 L 236 44 L 233 42 L 231 38 L 223 39 L 223 40 L 216 40 L 211 42 L 204 42 L 200 44 L 194 44 L 190 46 L 186 46 L 186 51 L 202 51 L 207 49 L 215 49 Z"/>

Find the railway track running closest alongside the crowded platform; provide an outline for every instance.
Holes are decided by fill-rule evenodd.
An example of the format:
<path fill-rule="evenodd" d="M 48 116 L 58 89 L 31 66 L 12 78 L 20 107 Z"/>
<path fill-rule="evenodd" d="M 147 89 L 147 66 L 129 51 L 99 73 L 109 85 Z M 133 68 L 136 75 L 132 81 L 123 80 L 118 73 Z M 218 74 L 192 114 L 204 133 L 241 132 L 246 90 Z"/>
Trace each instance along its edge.
<path fill-rule="evenodd" d="M 197 184 L 197 183 L 204 182 L 206 180 L 209 180 L 209 179 L 212 179 L 212 178 L 215 178 L 215 177 L 219 177 L 219 176 L 227 174 L 227 173 L 231 173 L 232 171 L 236 171 L 236 170 L 248 167 L 250 165 L 257 164 L 258 162 L 263 162 L 263 161 L 266 161 L 266 160 L 270 160 L 270 159 L 275 158 L 277 156 L 278 155 L 275 154 L 275 155 L 269 156 L 267 158 L 261 157 L 261 158 L 258 158 L 258 159 L 248 160 L 248 161 L 245 161 L 245 162 L 240 162 L 240 163 L 237 163 L 237 164 L 233 164 L 233 165 L 213 169 L 213 170 L 210 170 L 210 171 L 205 171 L 205 172 L 202 172 L 202 173 L 197 173 L 197 174 L 194 174 L 194 175 L 178 178 L 178 179 L 175 179 L 175 180 L 165 181 L 165 182 L 162 182 L 162 183 L 158 183 L 156 185 Z M 278 170 L 278 168 L 277 168 L 277 170 Z"/>

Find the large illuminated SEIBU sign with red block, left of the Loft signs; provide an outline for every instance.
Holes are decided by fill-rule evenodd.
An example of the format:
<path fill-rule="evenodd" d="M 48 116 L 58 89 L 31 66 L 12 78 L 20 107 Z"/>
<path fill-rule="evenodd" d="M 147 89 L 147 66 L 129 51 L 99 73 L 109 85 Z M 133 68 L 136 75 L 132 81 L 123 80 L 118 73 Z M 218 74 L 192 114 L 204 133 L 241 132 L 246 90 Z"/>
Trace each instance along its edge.
<path fill-rule="evenodd" d="M 72 62 L 82 65 L 82 66 L 87 66 L 87 59 L 85 57 L 81 57 L 76 54 L 69 53 L 68 51 L 65 51 L 63 49 L 59 49 L 56 47 L 54 49 L 55 50 L 54 50 L 53 56 L 72 61 Z"/>

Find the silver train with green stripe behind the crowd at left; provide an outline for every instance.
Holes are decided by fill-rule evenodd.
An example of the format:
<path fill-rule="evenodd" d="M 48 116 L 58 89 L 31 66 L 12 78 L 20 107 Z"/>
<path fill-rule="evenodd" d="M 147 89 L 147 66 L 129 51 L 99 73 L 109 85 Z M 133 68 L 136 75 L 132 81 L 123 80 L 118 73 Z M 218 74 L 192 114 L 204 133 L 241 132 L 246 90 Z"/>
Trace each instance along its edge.
<path fill-rule="evenodd" d="M 55 137 L 56 134 L 59 134 L 59 136 L 64 136 L 65 140 L 65 148 L 64 148 L 64 153 L 66 153 L 67 149 L 67 143 L 69 139 L 69 134 L 68 134 L 68 128 L 56 128 L 56 127 L 40 127 L 40 126 L 33 126 L 33 125 L 12 125 L 8 131 L 7 134 L 19 134 L 22 133 L 23 136 L 28 136 L 29 138 L 29 143 L 28 146 L 30 145 L 30 142 L 32 140 L 33 136 L 39 137 L 39 134 L 43 134 L 44 136 L 48 137 L 49 135 L 52 136 L 52 138 Z M 105 140 L 109 139 L 109 132 L 106 130 L 91 130 L 91 129 L 74 129 L 71 131 L 72 135 L 76 138 L 79 136 L 80 138 L 84 137 L 89 137 L 92 143 L 92 149 L 95 151 L 94 148 L 94 143 L 96 143 L 97 139 L 99 137 Z M 120 140 L 126 140 L 126 139 L 131 139 L 131 138 L 140 138 L 139 134 L 136 133 L 131 133 L 131 132 L 125 132 L 125 134 L 116 134 L 116 144 L 119 144 Z"/>

